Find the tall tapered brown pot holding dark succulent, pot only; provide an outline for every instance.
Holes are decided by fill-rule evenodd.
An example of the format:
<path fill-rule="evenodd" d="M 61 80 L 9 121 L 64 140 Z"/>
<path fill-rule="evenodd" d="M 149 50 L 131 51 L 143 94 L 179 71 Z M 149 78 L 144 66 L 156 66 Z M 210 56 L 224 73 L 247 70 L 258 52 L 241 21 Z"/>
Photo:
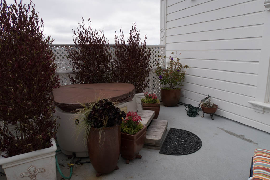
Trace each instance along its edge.
<path fill-rule="evenodd" d="M 97 177 L 118 169 L 117 162 L 119 160 L 121 145 L 120 128 L 120 125 L 112 128 L 104 128 L 101 130 L 101 137 L 99 129 L 90 129 L 87 149 L 91 164 L 97 171 Z"/>

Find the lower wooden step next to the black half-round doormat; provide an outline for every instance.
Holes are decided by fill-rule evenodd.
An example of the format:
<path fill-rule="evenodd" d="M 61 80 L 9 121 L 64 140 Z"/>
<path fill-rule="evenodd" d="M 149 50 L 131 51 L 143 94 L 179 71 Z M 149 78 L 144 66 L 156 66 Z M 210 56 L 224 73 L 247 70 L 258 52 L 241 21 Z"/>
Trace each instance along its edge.
<path fill-rule="evenodd" d="M 167 131 L 167 127 L 167 120 L 154 119 L 147 128 L 144 148 L 160 149 L 165 131 Z"/>

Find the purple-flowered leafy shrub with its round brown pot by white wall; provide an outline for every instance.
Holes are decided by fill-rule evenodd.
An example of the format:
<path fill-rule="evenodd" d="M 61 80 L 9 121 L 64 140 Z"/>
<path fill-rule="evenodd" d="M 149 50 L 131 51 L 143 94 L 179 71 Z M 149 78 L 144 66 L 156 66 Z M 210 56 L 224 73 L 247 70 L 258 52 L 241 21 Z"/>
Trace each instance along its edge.
<path fill-rule="evenodd" d="M 171 54 L 174 55 L 174 52 Z M 188 65 L 182 65 L 179 61 L 177 54 L 174 57 L 169 56 L 169 66 L 164 69 L 161 65 L 157 64 L 156 75 L 160 79 L 160 84 L 167 87 L 161 88 L 161 100 L 165 106 L 176 106 L 180 100 L 181 89 L 177 86 L 183 86 L 183 81 L 185 79 L 186 71 L 182 71 L 182 68 L 189 68 Z M 166 56 L 164 56 L 166 58 Z"/>

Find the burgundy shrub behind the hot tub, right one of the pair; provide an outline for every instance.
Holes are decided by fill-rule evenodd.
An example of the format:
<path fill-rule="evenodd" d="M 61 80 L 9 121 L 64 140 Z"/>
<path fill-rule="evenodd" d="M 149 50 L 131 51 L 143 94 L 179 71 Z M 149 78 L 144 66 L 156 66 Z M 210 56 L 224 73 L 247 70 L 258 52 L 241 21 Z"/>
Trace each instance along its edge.
<path fill-rule="evenodd" d="M 140 30 L 136 24 L 132 25 L 126 45 L 123 31 L 120 29 L 120 42 L 115 34 L 114 54 L 116 59 L 113 61 L 112 79 L 114 82 L 125 82 L 135 86 L 136 93 L 142 93 L 148 86 L 148 76 L 151 70 L 149 65 L 150 50 L 146 48 L 146 36 L 144 43 L 141 43 Z"/>

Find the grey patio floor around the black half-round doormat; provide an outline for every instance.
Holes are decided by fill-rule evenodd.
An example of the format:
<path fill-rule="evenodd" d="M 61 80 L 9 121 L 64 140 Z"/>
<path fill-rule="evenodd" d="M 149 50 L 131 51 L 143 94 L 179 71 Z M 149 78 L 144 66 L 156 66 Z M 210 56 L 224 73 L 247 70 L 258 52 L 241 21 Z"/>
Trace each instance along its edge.
<path fill-rule="evenodd" d="M 119 170 L 99 178 L 90 163 L 75 165 L 71 179 L 247 180 L 255 148 L 270 149 L 270 134 L 221 116 L 214 115 L 214 120 L 210 115 L 190 118 L 182 105 L 161 106 L 158 119 L 168 120 L 168 129 L 185 129 L 199 136 L 201 149 L 189 155 L 172 156 L 143 148 L 140 151 L 142 159 L 125 164 L 120 157 Z M 68 176 L 70 160 L 62 152 L 58 152 L 57 157 L 63 165 L 60 166 L 62 172 Z M 89 161 L 88 158 L 81 160 Z M 57 179 L 62 179 L 58 172 Z M 0 180 L 6 180 L 4 174 L 0 174 Z"/>

